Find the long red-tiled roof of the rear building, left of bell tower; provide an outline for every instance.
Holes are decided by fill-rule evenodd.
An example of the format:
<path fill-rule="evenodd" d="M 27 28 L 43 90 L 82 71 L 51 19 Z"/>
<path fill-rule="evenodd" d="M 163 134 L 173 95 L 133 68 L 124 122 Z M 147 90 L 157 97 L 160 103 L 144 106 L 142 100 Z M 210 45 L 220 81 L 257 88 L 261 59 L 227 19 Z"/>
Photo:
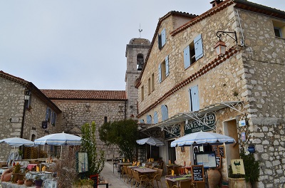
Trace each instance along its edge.
<path fill-rule="evenodd" d="M 41 90 L 51 100 L 127 100 L 125 90 Z"/>

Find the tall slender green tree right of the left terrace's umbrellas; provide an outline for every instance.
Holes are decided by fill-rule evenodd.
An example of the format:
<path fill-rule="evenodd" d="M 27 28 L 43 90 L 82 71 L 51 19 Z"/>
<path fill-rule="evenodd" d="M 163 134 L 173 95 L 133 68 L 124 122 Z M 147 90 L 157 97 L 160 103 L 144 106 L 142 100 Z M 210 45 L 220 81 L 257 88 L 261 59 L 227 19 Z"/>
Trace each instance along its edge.
<path fill-rule="evenodd" d="M 88 176 L 92 174 L 100 174 L 105 165 L 105 152 L 98 151 L 96 142 L 96 125 L 86 123 L 81 128 L 82 143 L 81 152 L 88 152 Z"/>

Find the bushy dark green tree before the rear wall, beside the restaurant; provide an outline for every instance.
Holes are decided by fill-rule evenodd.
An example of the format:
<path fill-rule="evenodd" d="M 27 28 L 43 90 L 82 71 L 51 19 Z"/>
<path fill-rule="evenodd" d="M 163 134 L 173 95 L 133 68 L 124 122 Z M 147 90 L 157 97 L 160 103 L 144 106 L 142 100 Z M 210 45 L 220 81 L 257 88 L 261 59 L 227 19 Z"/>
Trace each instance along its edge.
<path fill-rule="evenodd" d="M 125 155 L 130 160 L 135 157 L 135 151 L 138 140 L 138 122 L 137 120 L 119 120 L 114 122 L 105 122 L 99 128 L 100 140 L 107 145 L 117 145 L 120 148 L 120 154 Z"/>

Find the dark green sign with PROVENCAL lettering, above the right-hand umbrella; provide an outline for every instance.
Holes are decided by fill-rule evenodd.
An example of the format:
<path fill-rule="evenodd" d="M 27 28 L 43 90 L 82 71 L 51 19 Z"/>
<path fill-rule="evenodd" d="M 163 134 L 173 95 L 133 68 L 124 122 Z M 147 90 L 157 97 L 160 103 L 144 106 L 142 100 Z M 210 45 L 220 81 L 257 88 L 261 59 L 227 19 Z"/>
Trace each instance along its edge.
<path fill-rule="evenodd" d="M 216 115 L 214 115 L 214 113 L 209 113 L 198 118 L 199 120 L 188 121 L 187 124 L 185 124 L 185 135 L 201 130 L 207 131 L 216 129 Z"/>

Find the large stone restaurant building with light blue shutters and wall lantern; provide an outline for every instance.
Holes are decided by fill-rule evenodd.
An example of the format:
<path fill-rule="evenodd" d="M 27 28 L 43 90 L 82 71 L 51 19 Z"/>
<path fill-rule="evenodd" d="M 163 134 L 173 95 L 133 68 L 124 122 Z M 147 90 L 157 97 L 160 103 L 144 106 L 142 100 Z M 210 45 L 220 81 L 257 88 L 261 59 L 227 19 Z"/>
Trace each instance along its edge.
<path fill-rule="evenodd" d="M 142 131 L 162 130 L 159 155 L 177 164 L 194 164 L 195 148 L 170 147 L 175 137 L 200 130 L 234 137 L 237 144 L 223 147 L 225 181 L 230 160 L 253 144 L 261 162 L 256 186 L 281 187 L 285 12 L 242 0 L 211 3 L 199 16 L 171 11 L 159 19 L 136 85 L 138 118 L 148 125 Z M 218 55 L 219 34 L 227 48 Z"/>

